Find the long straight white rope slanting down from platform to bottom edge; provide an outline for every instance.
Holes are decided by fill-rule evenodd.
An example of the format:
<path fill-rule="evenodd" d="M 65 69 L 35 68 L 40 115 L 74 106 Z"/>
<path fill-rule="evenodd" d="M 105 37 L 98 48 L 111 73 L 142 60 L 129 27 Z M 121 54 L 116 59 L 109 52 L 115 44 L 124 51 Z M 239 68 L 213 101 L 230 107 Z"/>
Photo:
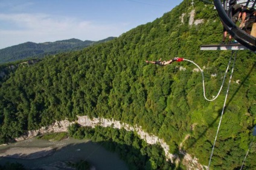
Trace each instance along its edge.
<path fill-rule="evenodd" d="M 233 54 L 233 51 L 232 51 L 232 54 Z M 220 124 L 222 122 L 222 116 L 223 116 L 223 113 L 224 113 L 224 110 L 225 110 L 225 107 L 226 107 L 226 99 L 228 98 L 228 91 L 229 91 L 229 87 L 230 87 L 230 84 L 231 84 L 232 74 L 234 72 L 234 66 L 235 66 L 235 59 L 236 58 L 237 58 L 237 51 L 235 52 L 235 58 L 234 58 L 233 66 L 232 66 L 231 75 L 230 75 L 230 78 L 229 78 L 228 89 L 226 90 L 226 97 L 225 97 L 225 101 L 224 101 L 224 104 L 223 104 L 222 115 L 220 116 L 220 122 L 219 122 L 219 126 L 218 126 L 218 129 L 217 129 L 216 137 L 215 137 L 215 140 L 214 140 L 214 143 L 213 143 L 213 150 L 211 151 L 211 157 L 210 157 L 210 160 L 209 160 L 208 169 L 210 168 L 210 165 L 211 165 L 211 158 L 213 157 L 214 146 L 215 146 L 217 136 L 218 136 L 218 133 L 219 133 L 219 130 L 220 130 Z"/>

